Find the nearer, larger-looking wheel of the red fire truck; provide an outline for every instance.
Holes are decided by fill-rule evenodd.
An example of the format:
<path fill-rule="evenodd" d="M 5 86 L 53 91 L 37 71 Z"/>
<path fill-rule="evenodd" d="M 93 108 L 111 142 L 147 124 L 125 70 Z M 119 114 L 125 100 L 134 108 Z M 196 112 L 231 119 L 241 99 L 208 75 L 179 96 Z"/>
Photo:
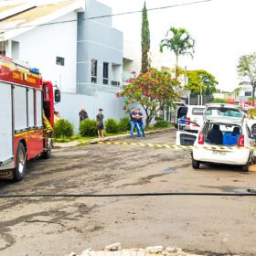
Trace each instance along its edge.
<path fill-rule="evenodd" d="M 14 173 L 14 178 L 16 181 L 21 181 L 26 173 L 26 162 L 27 155 L 25 147 L 22 143 L 17 145 L 16 149 L 16 169 Z"/>

